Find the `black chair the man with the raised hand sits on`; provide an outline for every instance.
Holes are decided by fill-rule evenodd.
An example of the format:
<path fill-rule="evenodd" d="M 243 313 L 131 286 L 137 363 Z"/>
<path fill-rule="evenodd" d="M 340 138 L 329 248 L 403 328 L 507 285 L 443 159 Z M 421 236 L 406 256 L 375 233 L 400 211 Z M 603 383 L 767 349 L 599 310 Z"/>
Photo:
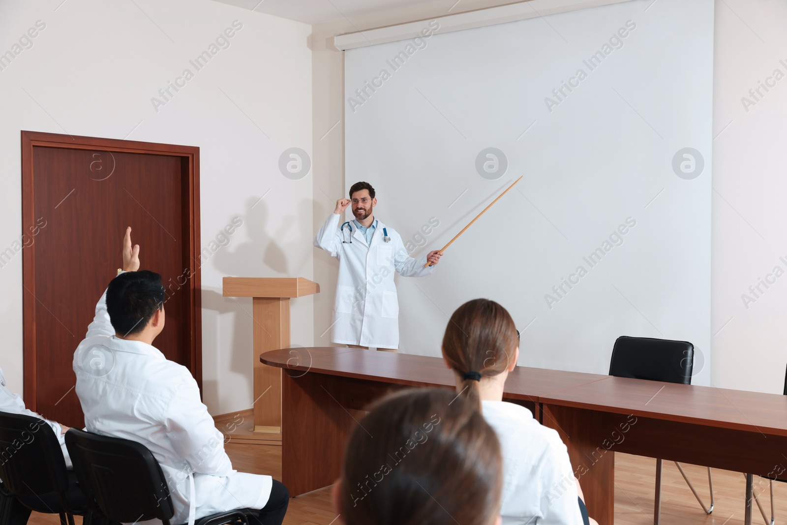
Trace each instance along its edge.
<path fill-rule="evenodd" d="M 175 514 L 161 466 L 141 443 L 79 431 L 65 434 L 74 471 L 96 516 L 113 522 L 135 523 Z M 198 519 L 195 525 L 257 523 L 259 511 L 237 508 Z"/>

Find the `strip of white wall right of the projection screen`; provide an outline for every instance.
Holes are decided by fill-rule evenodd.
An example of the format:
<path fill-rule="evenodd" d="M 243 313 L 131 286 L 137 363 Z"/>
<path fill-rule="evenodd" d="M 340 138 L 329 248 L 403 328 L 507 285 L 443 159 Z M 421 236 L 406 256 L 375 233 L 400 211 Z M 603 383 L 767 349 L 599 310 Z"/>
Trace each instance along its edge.
<path fill-rule="evenodd" d="M 748 288 L 776 266 L 787 272 L 787 77 L 761 88 L 759 102 L 748 91 L 775 69 L 787 76 L 785 27 L 785 2 L 716 2 L 713 382 L 773 393 L 787 363 L 787 276 L 768 277 L 775 283 L 756 296 Z M 756 105 L 745 108 L 743 97 Z"/>

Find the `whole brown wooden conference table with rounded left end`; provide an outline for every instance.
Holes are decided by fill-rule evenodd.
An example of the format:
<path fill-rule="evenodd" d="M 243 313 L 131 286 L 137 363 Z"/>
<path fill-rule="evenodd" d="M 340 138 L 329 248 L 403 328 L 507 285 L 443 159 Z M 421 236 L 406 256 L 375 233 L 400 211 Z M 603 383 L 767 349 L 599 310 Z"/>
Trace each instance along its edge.
<path fill-rule="evenodd" d="M 350 411 L 402 388 L 454 387 L 438 357 L 320 347 L 274 350 L 260 361 L 285 372 L 282 481 L 293 496 L 338 477 L 357 424 Z M 504 399 L 558 431 L 601 525 L 614 519 L 615 451 L 770 478 L 787 470 L 787 396 L 516 367 Z M 744 504 L 751 516 L 751 501 Z"/>

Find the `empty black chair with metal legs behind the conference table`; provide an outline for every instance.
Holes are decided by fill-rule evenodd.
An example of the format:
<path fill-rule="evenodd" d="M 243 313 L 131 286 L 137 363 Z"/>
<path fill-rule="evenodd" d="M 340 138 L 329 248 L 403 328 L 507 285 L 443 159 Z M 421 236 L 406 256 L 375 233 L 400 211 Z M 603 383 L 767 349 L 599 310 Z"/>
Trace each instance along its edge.
<path fill-rule="evenodd" d="M 664 383 L 691 384 L 691 375 L 694 364 L 694 346 L 687 341 L 671 341 L 668 339 L 654 339 L 644 337 L 628 337 L 622 335 L 615 341 L 612 349 L 612 358 L 609 364 L 609 375 L 616 377 L 630 377 L 633 379 L 648 379 Z M 706 514 L 713 512 L 713 477 L 711 468 L 708 467 L 708 485 L 711 489 L 711 505 L 706 507 L 700 495 L 686 476 L 683 467 L 678 461 L 678 466 L 683 479 L 689 485 L 696 501 Z M 653 523 L 659 525 L 661 516 L 661 471 L 663 460 L 656 460 L 656 497 L 653 502 Z"/>

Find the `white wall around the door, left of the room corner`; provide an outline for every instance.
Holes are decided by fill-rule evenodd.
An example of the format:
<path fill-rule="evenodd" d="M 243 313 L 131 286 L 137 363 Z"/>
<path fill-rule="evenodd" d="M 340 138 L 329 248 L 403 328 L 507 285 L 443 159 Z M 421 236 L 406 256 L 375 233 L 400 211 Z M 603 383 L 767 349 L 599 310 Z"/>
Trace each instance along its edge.
<path fill-rule="evenodd" d="M 243 220 L 201 267 L 204 398 L 213 414 L 249 408 L 251 300 L 221 297 L 221 278 L 312 278 L 311 174 L 279 172 L 284 150 L 312 150 L 310 27 L 209 0 L 3 0 L 0 53 L 37 20 L 33 46 L 0 71 L 0 251 L 21 233 L 20 130 L 199 146 L 202 247 Z M 229 47 L 190 66 L 234 20 Z M 194 78 L 156 111 L 150 99 L 184 68 Z M 0 268 L 0 366 L 18 392 L 21 261 Z M 292 308 L 292 342 L 311 346 L 312 299 Z"/>

